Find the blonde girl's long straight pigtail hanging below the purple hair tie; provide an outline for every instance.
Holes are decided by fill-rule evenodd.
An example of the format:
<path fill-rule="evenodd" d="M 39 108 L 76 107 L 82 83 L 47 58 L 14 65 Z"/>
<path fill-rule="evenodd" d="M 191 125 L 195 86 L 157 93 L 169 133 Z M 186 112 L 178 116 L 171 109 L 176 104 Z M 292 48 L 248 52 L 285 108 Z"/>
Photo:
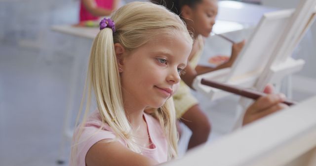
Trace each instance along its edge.
<path fill-rule="evenodd" d="M 123 108 L 120 76 L 111 28 L 100 30 L 93 42 L 89 74 L 102 122 L 111 127 L 117 138 L 125 140 L 128 148 L 140 153 L 141 150 L 136 144 Z"/>

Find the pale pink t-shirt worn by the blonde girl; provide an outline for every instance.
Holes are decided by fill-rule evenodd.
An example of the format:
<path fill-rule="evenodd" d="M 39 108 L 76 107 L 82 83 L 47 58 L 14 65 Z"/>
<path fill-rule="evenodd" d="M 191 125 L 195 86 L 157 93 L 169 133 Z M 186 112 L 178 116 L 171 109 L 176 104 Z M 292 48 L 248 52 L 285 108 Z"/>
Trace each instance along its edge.
<path fill-rule="evenodd" d="M 163 130 L 158 122 L 153 116 L 144 113 L 144 118 L 147 123 L 149 137 L 153 143 L 151 149 L 144 148 L 142 150 L 142 155 L 156 160 L 158 163 L 163 163 L 167 161 L 167 139 L 163 133 Z M 82 135 L 79 138 L 78 153 L 76 154 L 76 164 L 70 162 L 70 166 L 86 166 L 85 156 L 88 150 L 96 142 L 102 139 L 113 139 L 116 138 L 115 134 L 112 132 L 109 125 L 105 124 L 102 130 L 99 130 L 102 125 L 102 121 L 98 111 L 94 111 L 87 119 L 87 123 L 83 129 Z M 77 134 L 75 131 L 74 136 Z M 93 136 L 92 136 L 93 135 Z M 91 137 L 92 136 L 92 137 Z M 126 143 L 122 139 L 118 141 L 126 146 Z M 72 152 L 73 153 L 73 152 Z"/>

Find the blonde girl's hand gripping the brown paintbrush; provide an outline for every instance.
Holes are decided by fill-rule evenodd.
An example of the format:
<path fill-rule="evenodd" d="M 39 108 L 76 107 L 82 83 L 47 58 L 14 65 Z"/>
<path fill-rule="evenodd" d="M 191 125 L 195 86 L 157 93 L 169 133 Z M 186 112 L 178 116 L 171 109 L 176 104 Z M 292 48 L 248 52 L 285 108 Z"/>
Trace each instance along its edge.
<path fill-rule="evenodd" d="M 267 96 L 260 97 L 252 105 L 248 107 L 243 117 L 242 125 L 251 123 L 257 119 L 265 117 L 276 111 L 288 108 L 287 105 L 281 103 L 285 100 L 284 94 L 272 94 L 273 86 L 268 84 L 264 90 Z"/>

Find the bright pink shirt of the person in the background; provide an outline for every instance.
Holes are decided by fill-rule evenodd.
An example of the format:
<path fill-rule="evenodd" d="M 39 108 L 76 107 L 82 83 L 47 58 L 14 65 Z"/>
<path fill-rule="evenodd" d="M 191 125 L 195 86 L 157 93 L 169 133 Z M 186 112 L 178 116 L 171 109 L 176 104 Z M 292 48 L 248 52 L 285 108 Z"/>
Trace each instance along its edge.
<path fill-rule="evenodd" d="M 98 7 L 112 9 L 113 0 L 95 0 Z M 80 1 L 79 21 L 98 20 L 98 16 L 93 16 Z"/>

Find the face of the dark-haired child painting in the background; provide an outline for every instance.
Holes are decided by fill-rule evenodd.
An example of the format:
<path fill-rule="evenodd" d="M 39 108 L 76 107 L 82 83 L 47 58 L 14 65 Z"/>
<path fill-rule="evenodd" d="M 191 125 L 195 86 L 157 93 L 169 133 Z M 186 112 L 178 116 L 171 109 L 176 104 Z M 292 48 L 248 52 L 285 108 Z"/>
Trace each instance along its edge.
<path fill-rule="evenodd" d="M 192 8 L 193 20 L 192 28 L 194 29 L 195 36 L 202 35 L 208 37 L 215 24 L 215 18 L 217 16 L 217 1 L 216 0 L 202 0 Z"/>

